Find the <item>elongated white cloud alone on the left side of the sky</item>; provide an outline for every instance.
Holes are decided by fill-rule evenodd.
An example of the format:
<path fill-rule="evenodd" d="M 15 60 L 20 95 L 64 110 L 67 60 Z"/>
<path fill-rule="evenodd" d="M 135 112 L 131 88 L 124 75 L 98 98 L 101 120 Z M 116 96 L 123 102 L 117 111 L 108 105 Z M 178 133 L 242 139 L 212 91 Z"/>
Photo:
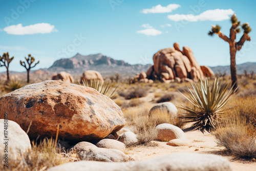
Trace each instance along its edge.
<path fill-rule="evenodd" d="M 38 23 L 29 26 L 22 26 L 22 24 L 12 25 L 4 28 L 4 31 L 7 34 L 14 34 L 14 35 L 26 35 L 26 34 L 45 34 L 51 33 L 54 31 L 58 31 L 54 28 L 55 26 L 50 25 L 49 23 Z"/>

